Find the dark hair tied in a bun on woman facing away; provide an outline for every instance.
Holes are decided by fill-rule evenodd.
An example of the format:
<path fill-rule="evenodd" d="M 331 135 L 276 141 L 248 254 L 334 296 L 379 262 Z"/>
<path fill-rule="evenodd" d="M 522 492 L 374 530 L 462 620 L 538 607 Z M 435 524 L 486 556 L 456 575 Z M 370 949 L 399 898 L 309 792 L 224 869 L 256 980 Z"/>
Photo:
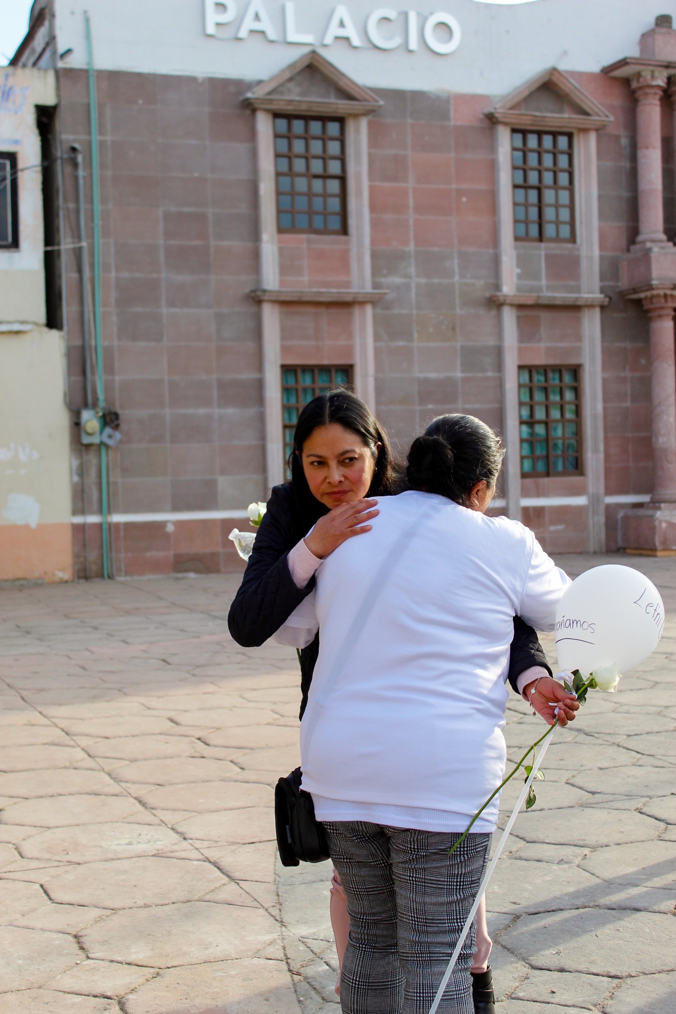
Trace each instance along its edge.
<path fill-rule="evenodd" d="M 475 483 L 495 485 L 504 456 L 502 440 L 480 419 L 437 416 L 410 445 L 406 479 L 410 489 L 466 506 Z"/>

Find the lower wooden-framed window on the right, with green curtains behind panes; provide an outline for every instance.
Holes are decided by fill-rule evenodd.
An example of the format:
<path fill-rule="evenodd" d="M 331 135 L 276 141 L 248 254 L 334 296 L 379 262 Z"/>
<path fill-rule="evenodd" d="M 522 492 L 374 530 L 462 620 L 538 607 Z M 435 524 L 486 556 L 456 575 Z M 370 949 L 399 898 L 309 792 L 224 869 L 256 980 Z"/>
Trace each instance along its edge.
<path fill-rule="evenodd" d="M 566 379 L 566 372 L 571 370 L 575 371 L 575 380 Z M 568 390 L 573 387 L 576 388 L 577 396 L 567 397 Z M 538 388 L 545 390 L 545 397 L 537 396 Z M 552 388 L 554 394 L 560 388 L 559 396 L 551 396 Z M 519 367 L 519 449 L 522 479 L 560 479 L 584 475 L 582 405 L 582 366 L 567 364 Z M 575 408 L 575 415 L 567 411 L 570 407 Z M 574 441 L 577 444 L 575 450 L 570 449 Z M 546 444 L 546 451 L 540 449 L 538 453 L 538 445 L 541 448 L 542 444 Z M 528 445 L 531 447 L 530 452 L 524 451 L 524 447 L 528 448 Z M 562 467 L 554 468 L 554 460 L 558 458 Z M 569 462 L 574 458 L 577 466 L 569 467 Z M 532 470 L 524 470 L 524 461 L 528 460 L 532 461 Z M 546 470 L 537 469 L 538 460 L 545 461 Z"/>

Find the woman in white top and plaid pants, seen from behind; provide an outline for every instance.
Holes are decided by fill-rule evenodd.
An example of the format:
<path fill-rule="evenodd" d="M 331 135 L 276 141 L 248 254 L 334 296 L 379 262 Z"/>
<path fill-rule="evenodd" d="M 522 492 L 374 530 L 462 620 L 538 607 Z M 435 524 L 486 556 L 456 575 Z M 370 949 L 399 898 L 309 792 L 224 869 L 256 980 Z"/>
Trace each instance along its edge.
<path fill-rule="evenodd" d="M 504 778 L 513 618 L 553 629 L 570 583 L 528 528 L 484 515 L 503 453 L 479 420 L 436 419 L 408 453 L 410 490 L 323 561 L 288 621 L 320 629 L 301 757 L 348 895 L 345 1014 L 427 1014 L 497 824 L 498 799 L 449 859 Z M 529 692 L 553 722 L 550 683 Z M 444 1014 L 472 1014 L 473 947 L 470 934 Z"/>

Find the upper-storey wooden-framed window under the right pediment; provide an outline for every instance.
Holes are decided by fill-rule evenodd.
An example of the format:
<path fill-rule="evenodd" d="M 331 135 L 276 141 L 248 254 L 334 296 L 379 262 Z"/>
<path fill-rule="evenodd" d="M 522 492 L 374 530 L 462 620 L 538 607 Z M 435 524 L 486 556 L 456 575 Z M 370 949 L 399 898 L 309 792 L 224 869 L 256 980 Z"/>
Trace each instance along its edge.
<path fill-rule="evenodd" d="M 545 143 L 549 139 L 551 143 Z M 566 147 L 561 144 L 562 139 L 566 139 Z M 577 242 L 575 135 L 571 131 L 515 128 L 511 140 L 515 241 Z M 570 216 L 568 219 L 566 214 Z M 559 215 L 564 217 L 559 218 Z M 537 235 L 528 234 L 534 226 L 537 227 Z M 524 228 L 526 235 L 517 235 L 519 227 Z M 567 227 L 570 236 L 559 235 L 560 230 Z M 551 228 L 555 229 L 555 235 L 547 235 Z"/>

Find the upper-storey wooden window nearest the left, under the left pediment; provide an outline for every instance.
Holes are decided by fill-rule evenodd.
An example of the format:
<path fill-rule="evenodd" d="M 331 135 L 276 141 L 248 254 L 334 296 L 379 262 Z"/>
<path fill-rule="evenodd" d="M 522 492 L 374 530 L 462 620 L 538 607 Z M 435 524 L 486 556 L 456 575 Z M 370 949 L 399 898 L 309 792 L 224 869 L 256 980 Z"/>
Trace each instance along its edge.
<path fill-rule="evenodd" d="M 281 128 L 285 123 L 287 129 L 283 130 Z M 301 124 L 304 125 L 303 131 L 298 129 Z M 321 133 L 316 130 L 317 124 L 322 125 Z M 324 236 L 348 234 L 346 133 L 344 117 L 277 113 L 274 115 L 275 201 L 277 228 L 280 233 L 311 233 Z M 295 142 L 304 145 L 305 151 L 295 151 Z M 330 151 L 331 144 L 335 142 L 340 144 L 341 153 Z M 313 152 L 313 143 L 321 146 L 323 151 Z M 280 150 L 285 146 L 288 151 Z M 321 171 L 319 171 L 320 161 Z M 328 171 L 331 168 L 334 171 Z M 336 200 L 339 208 L 329 211 L 329 203 Z M 317 207 L 319 202 L 322 202 L 323 207 Z M 307 207 L 304 207 L 305 203 Z M 298 218 L 303 215 L 307 215 L 307 225 L 296 224 Z M 293 219 L 292 224 L 286 222 L 286 216 Z M 323 225 L 319 222 L 320 218 L 323 220 Z M 340 225 L 329 228 L 328 222 L 333 218 L 340 218 Z"/>

